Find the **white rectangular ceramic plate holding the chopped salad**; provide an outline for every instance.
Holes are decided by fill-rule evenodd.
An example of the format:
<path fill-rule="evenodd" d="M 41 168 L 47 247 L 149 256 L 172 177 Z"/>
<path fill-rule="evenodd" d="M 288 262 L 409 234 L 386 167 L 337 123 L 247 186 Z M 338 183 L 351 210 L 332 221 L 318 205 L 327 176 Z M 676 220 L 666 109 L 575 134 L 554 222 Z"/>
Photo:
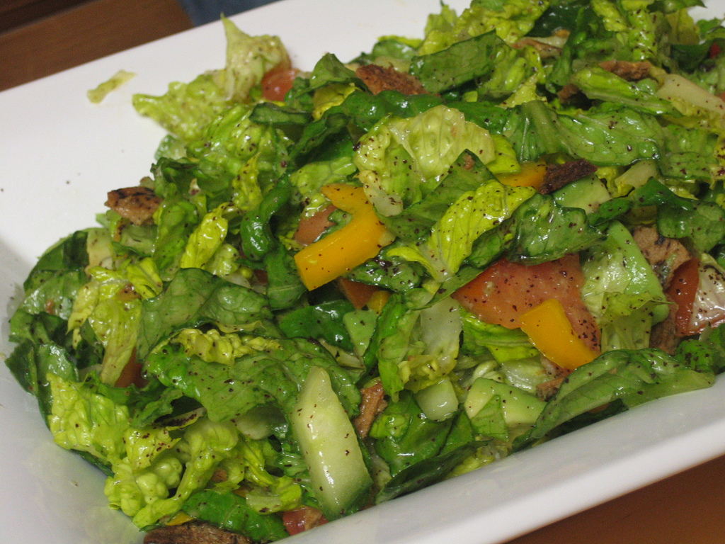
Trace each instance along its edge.
<path fill-rule="evenodd" d="M 465 0 L 450 1 L 457 9 Z M 694 15 L 721 16 L 725 1 Z M 284 0 L 233 17 L 242 30 L 283 38 L 310 69 L 378 36 L 421 36 L 439 0 Z M 133 93 L 162 94 L 224 64 L 218 23 L 130 49 L 0 93 L 0 353 L 7 316 L 34 260 L 61 236 L 94 224 L 111 189 L 146 176 L 161 129 Z M 138 76 L 99 105 L 86 90 L 123 68 Z M 295 543 L 493 544 L 725 453 L 725 380 L 658 400 L 472 474 L 294 537 Z M 136 544 L 108 508 L 104 478 L 57 448 L 35 400 L 0 368 L 0 542 Z M 292 542 L 291 541 L 291 542 Z"/>

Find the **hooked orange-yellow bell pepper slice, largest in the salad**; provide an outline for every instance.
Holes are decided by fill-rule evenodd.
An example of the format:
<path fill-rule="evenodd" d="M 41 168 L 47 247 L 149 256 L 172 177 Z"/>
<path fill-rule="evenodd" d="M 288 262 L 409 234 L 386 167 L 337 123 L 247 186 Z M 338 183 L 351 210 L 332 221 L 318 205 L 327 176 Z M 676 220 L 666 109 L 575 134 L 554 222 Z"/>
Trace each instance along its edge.
<path fill-rule="evenodd" d="M 372 259 L 394 239 L 378 219 L 362 187 L 330 184 L 322 188 L 322 193 L 334 206 L 351 213 L 352 219 L 294 255 L 302 283 L 310 291 Z"/>

